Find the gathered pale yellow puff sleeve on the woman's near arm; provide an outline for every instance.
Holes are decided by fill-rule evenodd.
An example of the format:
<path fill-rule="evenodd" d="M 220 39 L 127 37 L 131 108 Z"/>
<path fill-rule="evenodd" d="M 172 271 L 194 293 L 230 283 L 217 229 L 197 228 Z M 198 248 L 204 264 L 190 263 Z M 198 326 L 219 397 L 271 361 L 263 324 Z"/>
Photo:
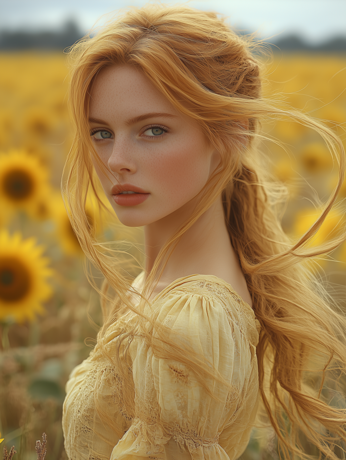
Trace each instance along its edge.
<path fill-rule="evenodd" d="M 155 308 L 159 324 L 170 328 L 168 339 L 211 362 L 231 388 L 162 352 L 157 356 L 144 339 L 138 340 L 131 349 L 136 416 L 110 460 L 237 458 L 249 441 L 258 398 L 255 346 L 243 313 L 232 297 L 176 290 Z M 220 443 L 224 430 L 226 450 Z"/>

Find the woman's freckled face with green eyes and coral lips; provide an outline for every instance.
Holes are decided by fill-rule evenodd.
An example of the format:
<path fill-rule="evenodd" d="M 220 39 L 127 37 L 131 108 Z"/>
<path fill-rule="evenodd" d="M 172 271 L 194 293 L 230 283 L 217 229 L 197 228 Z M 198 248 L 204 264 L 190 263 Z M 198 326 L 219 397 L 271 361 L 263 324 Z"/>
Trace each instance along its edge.
<path fill-rule="evenodd" d="M 105 174 L 94 162 L 96 172 L 125 225 L 147 225 L 186 211 L 218 164 L 218 152 L 197 123 L 134 67 L 102 69 L 89 116 L 95 149 L 108 169 Z"/>

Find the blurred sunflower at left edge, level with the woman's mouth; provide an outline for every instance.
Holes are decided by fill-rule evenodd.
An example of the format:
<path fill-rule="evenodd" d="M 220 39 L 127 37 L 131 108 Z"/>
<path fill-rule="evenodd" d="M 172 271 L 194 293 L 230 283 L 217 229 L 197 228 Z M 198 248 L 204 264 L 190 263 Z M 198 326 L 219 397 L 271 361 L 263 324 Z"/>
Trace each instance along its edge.
<path fill-rule="evenodd" d="M 0 154 L 0 203 L 2 207 L 35 213 L 49 191 L 48 172 L 40 161 L 25 151 Z"/>

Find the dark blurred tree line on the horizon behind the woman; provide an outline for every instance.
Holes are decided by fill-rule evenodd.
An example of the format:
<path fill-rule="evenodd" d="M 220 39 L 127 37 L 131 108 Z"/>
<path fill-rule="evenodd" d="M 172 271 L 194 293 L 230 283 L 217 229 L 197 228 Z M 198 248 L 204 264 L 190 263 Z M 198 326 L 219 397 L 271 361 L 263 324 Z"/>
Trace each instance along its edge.
<path fill-rule="evenodd" d="M 239 32 L 244 33 L 244 32 Z M 41 30 L 29 32 L 24 30 L 2 30 L 0 32 L 0 50 L 63 50 L 80 40 L 83 33 L 77 24 L 71 20 L 64 24 L 61 30 Z M 346 36 L 327 40 L 322 44 L 311 45 L 299 35 L 286 35 L 270 44 L 273 52 L 334 52 L 346 53 Z"/>

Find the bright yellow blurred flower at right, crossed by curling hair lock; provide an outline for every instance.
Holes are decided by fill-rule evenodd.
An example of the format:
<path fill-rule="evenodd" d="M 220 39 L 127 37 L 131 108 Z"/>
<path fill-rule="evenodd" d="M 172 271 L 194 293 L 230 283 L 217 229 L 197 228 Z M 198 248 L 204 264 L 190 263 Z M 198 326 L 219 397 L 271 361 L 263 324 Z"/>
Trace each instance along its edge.
<path fill-rule="evenodd" d="M 294 233 L 296 236 L 302 236 L 316 222 L 321 215 L 322 210 L 314 208 L 302 209 L 295 215 Z M 330 240 L 339 234 L 341 227 L 345 223 L 345 217 L 340 216 L 332 210 L 328 213 L 318 232 L 313 237 L 312 246 L 318 246 L 323 242 Z"/>

